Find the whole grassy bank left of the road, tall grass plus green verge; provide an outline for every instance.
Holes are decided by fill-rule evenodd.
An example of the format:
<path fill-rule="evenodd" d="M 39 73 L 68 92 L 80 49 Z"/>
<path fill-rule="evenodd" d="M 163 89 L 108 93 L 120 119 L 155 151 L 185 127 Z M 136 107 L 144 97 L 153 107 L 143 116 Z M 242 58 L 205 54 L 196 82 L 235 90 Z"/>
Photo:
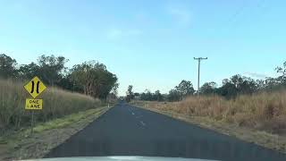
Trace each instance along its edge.
<path fill-rule="evenodd" d="M 31 135 L 30 111 L 24 109 L 25 98 L 30 96 L 23 85 L 0 80 L 0 160 L 43 157 L 108 110 L 100 100 L 48 87 L 39 96 L 44 100 L 43 110 L 35 111 Z"/>

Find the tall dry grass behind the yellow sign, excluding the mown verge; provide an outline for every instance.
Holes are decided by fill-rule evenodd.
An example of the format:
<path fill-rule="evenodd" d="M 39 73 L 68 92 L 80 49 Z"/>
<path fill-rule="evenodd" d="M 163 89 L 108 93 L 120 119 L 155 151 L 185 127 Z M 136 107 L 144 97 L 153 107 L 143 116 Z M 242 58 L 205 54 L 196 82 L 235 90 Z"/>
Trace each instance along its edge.
<path fill-rule="evenodd" d="M 21 129 L 30 122 L 30 111 L 24 109 L 29 93 L 23 89 L 24 82 L 0 80 L 0 134 L 7 130 Z M 43 98 L 43 110 L 35 111 L 37 122 L 61 117 L 66 114 L 102 106 L 100 100 L 48 87 L 38 98 Z"/>

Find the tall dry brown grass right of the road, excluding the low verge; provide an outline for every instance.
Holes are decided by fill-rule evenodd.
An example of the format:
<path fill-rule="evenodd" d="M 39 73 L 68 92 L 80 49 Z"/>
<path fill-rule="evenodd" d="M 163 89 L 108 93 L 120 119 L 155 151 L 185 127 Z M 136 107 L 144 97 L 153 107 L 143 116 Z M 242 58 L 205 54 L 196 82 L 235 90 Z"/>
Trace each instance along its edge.
<path fill-rule="evenodd" d="M 223 97 L 187 97 L 180 102 L 140 102 L 162 111 L 189 116 L 205 116 L 214 122 L 286 134 L 286 90 L 240 96 L 232 100 Z M 144 105 L 146 104 L 146 105 Z"/>

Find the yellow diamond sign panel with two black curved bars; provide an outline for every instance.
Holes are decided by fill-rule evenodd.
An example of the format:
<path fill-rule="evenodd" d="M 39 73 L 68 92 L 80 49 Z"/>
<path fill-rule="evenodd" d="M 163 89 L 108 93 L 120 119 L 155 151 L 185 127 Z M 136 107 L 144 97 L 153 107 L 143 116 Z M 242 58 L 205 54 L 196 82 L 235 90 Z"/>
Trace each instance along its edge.
<path fill-rule="evenodd" d="M 46 89 L 46 86 L 38 77 L 34 77 L 24 88 L 29 92 L 30 96 L 36 98 Z"/>

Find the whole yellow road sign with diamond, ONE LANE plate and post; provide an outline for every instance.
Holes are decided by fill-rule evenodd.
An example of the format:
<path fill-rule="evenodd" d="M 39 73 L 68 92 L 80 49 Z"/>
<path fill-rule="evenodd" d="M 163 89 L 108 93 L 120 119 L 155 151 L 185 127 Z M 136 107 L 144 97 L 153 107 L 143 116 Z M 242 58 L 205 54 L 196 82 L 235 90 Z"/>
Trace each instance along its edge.
<path fill-rule="evenodd" d="M 26 104 L 25 104 L 25 109 L 31 110 L 30 132 L 33 133 L 33 128 L 35 126 L 35 118 L 34 118 L 35 110 L 43 109 L 43 99 L 36 99 L 36 97 L 38 97 L 38 95 L 40 95 L 46 89 L 46 86 L 36 76 L 24 86 L 24 89 L 26 89 L 29 95 L 33 97 L 33 98 L 26 98 Z"/>

